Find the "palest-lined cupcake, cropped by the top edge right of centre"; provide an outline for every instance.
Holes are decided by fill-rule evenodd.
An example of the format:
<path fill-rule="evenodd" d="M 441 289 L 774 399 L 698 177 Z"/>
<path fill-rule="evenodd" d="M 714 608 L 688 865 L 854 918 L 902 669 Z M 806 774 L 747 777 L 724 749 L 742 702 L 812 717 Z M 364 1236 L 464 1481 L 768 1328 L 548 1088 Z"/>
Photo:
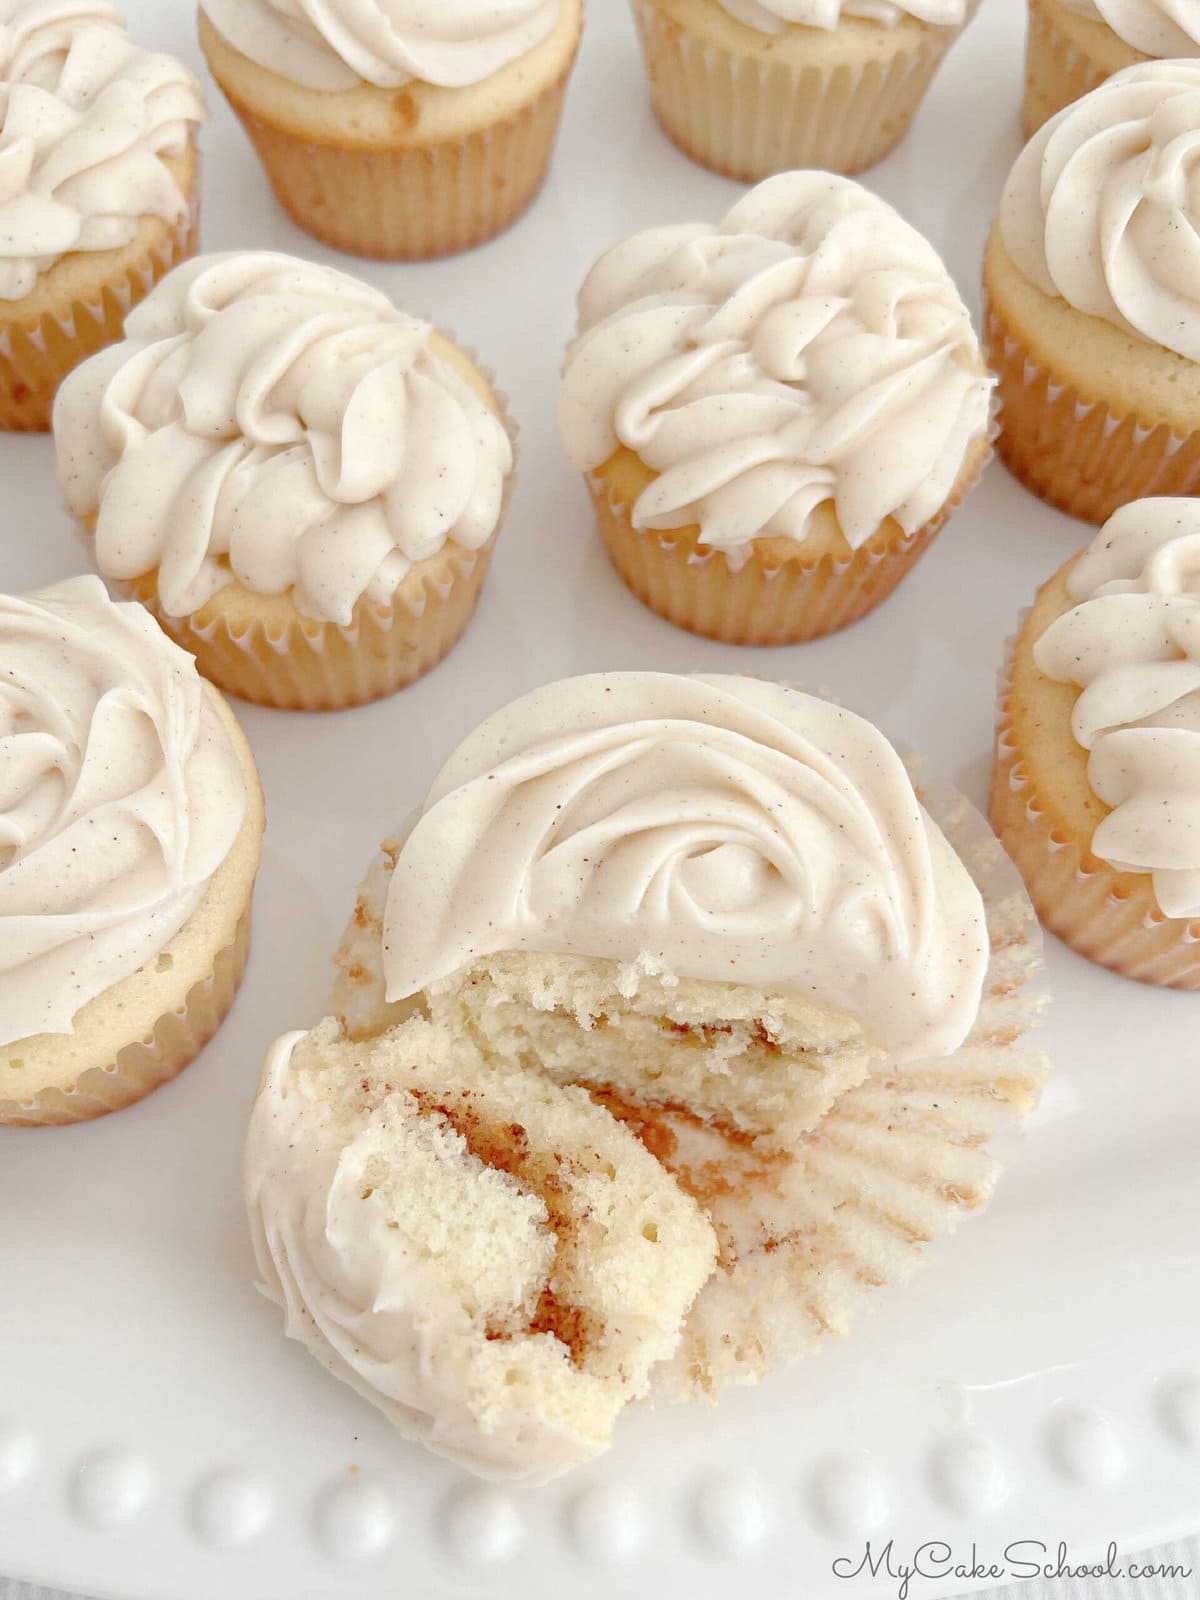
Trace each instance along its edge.
<path fill-rule="evenodd" d="M 667 138 L 702 166 L 757 182 L 882 162 L 978 0 L 632 3 Z"/>

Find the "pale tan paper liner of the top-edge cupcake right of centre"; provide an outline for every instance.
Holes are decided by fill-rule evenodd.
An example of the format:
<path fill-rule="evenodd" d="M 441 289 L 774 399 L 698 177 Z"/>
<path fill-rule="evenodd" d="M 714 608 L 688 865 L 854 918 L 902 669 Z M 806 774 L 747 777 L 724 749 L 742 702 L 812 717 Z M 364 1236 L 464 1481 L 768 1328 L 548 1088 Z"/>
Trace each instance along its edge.
<path fill-rule="evenodd" d="M 797 67 L 738 56 L 634 0 L 654 115 L 701 166 L 757 182 L 794 168 L 861 173 L 894 149 L 954 30 L 923 34 L 890 61 Z"/>

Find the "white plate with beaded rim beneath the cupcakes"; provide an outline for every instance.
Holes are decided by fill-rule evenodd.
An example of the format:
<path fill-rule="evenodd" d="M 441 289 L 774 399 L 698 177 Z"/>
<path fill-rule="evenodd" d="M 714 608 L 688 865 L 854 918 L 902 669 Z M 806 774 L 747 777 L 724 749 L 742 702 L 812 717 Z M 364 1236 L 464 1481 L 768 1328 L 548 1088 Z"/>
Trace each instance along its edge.
<path fill-rule="evenodd" d="M 867 179 L 934 240 L 971 304 L 1019 147 L 1022 10 L 984 0 L 914 134 Z M 187 0 L 126 11 L 146 43 L 200 66 Z M 510 397 L 520 483 L 482 610 L 430 678 L 331 717 L 238 709 L 270 826 L 246 984 L 214 1045 L 93 1126 L 0 1130 L 0 1570 L 122 1600 L 477 1587 L 590 1600 L 614 1586 L 867 1600 L 896 1586 L 830 1576 L 867 1534 L 894 1536 L 901 1555 L 947 1539 L 965 1560 L 971 1541 L 995 1560 L 1013 1539 L 1066 1539 L 1083 1560 L 1109 1539 L 1133 1550 L 1197 1531 L 1200 1002 L 1126 984 L 1053 941 L 1045 1045 L 1058 1070 L 997 1200 L 819 1360 L 717 1411 L 632 1416 L 608 1458 L 549 1490 L 478 1494 L 283 1342 L 251 1288 L 238 1194 L 258 1069 L 275 1034 L 318 1014 L 374 845 L 462 734 L 570 672 L 749 667 L 832 690 L 982 803 L 1003 642 L 1088 530 L 997 464 L 899 594 L 848 634 L 762 653 L 693 640 L 614 578 L 554 435 L 573 294 L 598 251 L 637 227 L 715 219 L 741 192 L 659 134 L 619 0 L 592 0 L 534 211 L 446 262 L 355 267 L 306 238 L 211 99 L 205 246 L 328 259 L 458 334 Z M 0 438 L 0 586 L 78 571 L 50 442 Z M 230 1477 L 245 1526 L 256 1507 L 264 1526 L 222 1550 L 211 1486 Z M 629 1571 L 616 1576 L 605 1550 Z M 1200 1586 L 1128 1592 L 1176 1600 Z"/>

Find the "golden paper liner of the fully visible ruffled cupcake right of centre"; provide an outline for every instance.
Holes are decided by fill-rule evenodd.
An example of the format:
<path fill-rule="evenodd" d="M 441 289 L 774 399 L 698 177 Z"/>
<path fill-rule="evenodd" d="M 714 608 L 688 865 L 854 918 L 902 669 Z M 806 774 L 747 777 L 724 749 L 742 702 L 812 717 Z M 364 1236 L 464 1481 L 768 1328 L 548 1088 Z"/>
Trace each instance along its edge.
<path fill-rule="evenodd" d="M 798 645 L 858 622 L 886 600 L 979 482 L 989 459 L 990 448 L 960 478 L 938 515 L 912 536 L 891 523 L 845 557 L 811 558 L 797 546 L 792 560 L 750 554 L 736 568 L 723 550 L 701 546 L 696 530 L 635 528 L 630 507 L 610 494 L 602 477 L 589 477 L 587 488 L 613 566 L 664 621 L 726 645 Z"/>

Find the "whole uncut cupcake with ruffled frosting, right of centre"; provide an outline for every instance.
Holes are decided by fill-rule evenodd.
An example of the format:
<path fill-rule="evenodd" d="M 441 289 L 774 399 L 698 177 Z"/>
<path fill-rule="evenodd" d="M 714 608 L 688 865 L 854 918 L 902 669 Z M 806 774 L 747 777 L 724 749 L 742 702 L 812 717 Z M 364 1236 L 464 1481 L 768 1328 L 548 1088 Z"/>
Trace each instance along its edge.
<path fill-rule="evenodd" d="M 579 294 L 560 437 L 618 573 L 731 645 L 877 606 L 990 453 L 992 379 L 933 246 L 846 178 L 610 250 Z"/>

